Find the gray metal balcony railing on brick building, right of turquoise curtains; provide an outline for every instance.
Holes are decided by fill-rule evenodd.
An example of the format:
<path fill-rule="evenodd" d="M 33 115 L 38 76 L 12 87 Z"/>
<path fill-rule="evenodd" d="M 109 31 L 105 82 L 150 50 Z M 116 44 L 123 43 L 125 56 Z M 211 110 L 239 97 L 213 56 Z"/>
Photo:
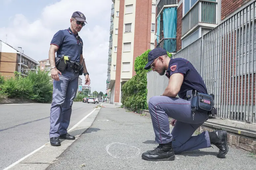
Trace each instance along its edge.
<path fill-rule="evenodd" d="M 196 26 L 198 22 L 217 24 L 216 7 L 217 2 L 197 1 L 182 18 L 182 35 Z"/>

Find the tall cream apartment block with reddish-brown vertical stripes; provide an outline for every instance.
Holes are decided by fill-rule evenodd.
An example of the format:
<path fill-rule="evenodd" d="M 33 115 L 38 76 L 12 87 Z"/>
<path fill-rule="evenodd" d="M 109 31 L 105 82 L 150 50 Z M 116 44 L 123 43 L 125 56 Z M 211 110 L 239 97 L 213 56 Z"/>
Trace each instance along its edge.
<path fill-rule="evenodd" d="M 122 85 L 136 73 L 134 61 L 155 48 L 155 0 L 112 0 L 107 68 L 110 103 L 120 103 Z"/>

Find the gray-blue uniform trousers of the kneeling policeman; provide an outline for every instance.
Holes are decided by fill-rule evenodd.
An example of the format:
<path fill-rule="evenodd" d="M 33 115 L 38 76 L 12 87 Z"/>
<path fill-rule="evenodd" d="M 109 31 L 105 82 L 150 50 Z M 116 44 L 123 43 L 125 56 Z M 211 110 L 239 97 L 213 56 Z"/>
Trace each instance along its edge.
<path fill-rule="evenodd" d="M 211 146 L 208 131 L 192 136 L 209 115 L 195 112 L 193 120 L 190 103 L 188 100 L 166 96 L 154 96 L 149 99 L 155 141 L 159 144 L 172 141 L 175 154 Z M 171 133 L 168 116 L 177 120 Z"/>

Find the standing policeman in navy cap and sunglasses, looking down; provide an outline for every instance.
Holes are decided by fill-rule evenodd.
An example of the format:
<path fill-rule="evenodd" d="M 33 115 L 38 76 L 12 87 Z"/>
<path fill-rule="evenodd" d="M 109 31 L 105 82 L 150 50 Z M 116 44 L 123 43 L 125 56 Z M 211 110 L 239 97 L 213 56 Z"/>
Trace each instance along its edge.
<path fill-rule="evenodd" d="M 51 76 L 54 79 L 49 133 L 52 146 L 61 145 L 59 138 L 75 139 L 75 136 L 67 133 L 67 128 L 78 88 L 79 75 L 83 73 L 85 85 L 90 85 L 89 73 L 83 58 L 83 41 L 78 35 L 85 25 L 85 20 L 84 14 L 74 12 L 70 19 L 71 26 L 68 29 L 59 30 L 50 44 L 49 61 Z"/>

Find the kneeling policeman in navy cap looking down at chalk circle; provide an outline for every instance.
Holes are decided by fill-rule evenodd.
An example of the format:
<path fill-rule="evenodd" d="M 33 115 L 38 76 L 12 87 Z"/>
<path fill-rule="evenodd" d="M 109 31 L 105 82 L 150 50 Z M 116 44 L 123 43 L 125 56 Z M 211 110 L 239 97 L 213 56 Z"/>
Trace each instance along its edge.
<path fill-rule="evenodd" d="M 192 136 L 209 117 L 209 112 L 191 110 L 193 91 L 208 94 L 204 81 L 193 65 L 183 58 L 169 58 L 162 48 L 155 48 L 148 54 L 145 69 L 152 68 L 169 78 L 162 96 L 149 99 L 149 112 L 155 132 L 155 141 L 159 146 L 142 154 L 145 160 L 174 160 L 175 154 L 184 151 L 208 148 L 211 144 L 219 148 L 217 157 L 224 158 L 228 153 L 227 132 L 217 130 L 204 131 Z M 157 87 L 156 87 L 157 88 Z M 179 98 L 176 96 L 179 95 Z M 168 116 L 173 118 L 171 134 Z"/>

